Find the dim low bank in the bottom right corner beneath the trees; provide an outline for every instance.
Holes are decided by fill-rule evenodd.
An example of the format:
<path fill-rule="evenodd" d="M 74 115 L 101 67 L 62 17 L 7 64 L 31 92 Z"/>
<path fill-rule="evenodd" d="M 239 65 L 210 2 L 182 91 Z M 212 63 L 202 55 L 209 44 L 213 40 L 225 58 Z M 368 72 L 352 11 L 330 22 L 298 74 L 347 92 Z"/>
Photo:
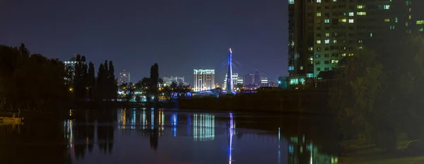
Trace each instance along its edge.
<path fill-rule="evenodd" d="M 345 141 L 341 145 L 346 154 L 338 164 L 418 164 L 424 163 L 423 151 L 404 150 L 408 141 L 400 141 L 396 151 L 387 152 L 365 144 L 363 140 Z"/>

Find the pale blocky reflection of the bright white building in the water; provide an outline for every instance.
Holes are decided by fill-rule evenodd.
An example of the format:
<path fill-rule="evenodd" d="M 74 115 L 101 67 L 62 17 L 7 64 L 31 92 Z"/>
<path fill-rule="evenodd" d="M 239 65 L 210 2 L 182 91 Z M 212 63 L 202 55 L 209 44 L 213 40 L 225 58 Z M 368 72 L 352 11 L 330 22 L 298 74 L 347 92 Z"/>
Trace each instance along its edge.
<path fill-rule="evenodd" d="M 214 115 L 193 115 L 193 139 L 194 141 L 212 141 L 215 139 Z"/>

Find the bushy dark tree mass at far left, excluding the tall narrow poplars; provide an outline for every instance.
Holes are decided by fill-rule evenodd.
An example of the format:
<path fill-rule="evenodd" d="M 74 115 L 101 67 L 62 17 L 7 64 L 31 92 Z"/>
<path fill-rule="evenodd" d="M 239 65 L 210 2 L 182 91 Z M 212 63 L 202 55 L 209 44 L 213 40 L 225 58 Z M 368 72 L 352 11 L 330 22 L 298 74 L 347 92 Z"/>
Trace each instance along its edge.
<path fill-rule="evenodd" d="M 0 45 L 0 110 L 51 110 L 70 98 L 64 64 Z"/>

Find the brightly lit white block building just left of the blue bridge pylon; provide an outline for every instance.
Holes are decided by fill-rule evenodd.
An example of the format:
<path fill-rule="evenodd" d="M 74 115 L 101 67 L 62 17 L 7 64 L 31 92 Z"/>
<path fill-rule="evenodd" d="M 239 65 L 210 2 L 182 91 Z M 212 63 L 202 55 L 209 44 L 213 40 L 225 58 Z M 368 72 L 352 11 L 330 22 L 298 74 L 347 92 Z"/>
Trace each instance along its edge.
<path fill-rule="evenodd" d="M 211 90 L 215 86 L 215 69 L 194 69 L 194 91 Z"/>

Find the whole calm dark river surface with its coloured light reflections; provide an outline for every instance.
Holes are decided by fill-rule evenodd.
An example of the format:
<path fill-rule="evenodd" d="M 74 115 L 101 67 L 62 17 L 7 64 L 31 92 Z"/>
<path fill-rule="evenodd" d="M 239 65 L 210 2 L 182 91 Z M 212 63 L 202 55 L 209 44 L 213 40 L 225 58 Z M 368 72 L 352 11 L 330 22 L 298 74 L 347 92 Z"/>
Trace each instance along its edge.
<path fill-rule="evenodd" d="M 118 109 L 0 125 L 0 163 L 336 163 L 328 117 Z"/>

